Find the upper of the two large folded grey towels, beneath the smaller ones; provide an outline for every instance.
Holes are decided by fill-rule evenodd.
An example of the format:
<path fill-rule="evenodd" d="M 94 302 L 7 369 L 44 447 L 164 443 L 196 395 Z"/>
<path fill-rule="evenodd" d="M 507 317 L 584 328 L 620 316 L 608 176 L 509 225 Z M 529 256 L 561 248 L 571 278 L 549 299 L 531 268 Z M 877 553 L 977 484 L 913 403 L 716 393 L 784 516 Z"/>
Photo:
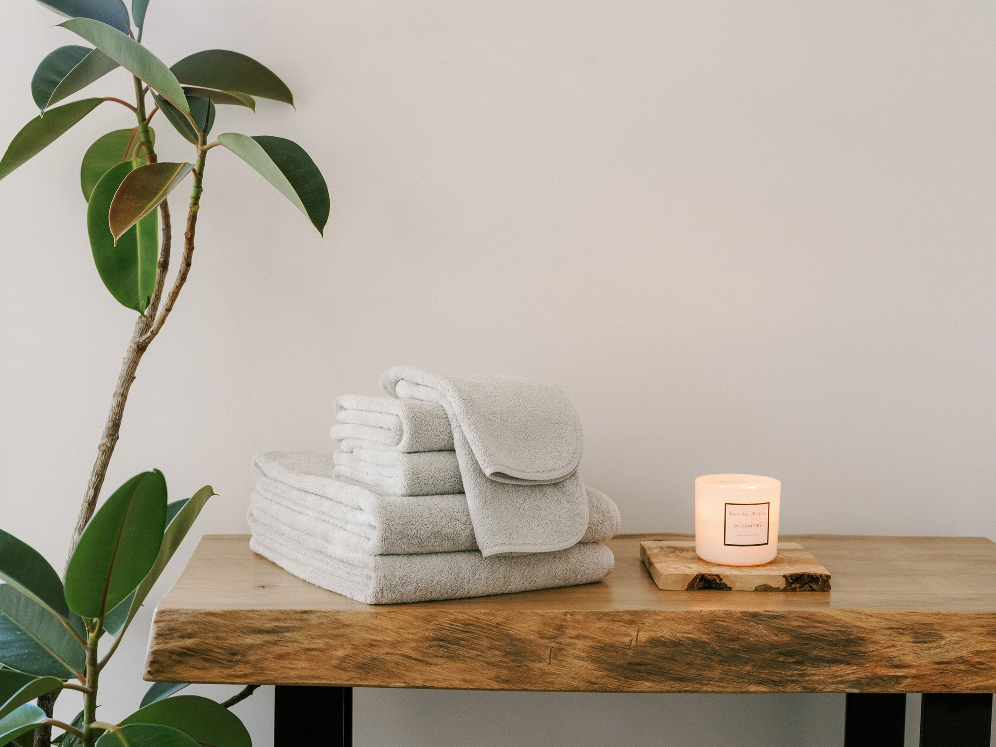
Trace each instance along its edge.
<path fill-rule="evenodd" d="M 329 454 L 270 451 L 253 458 L 251 504 L 295 531 L 363 555 L 476 550 L 466 497 L 381 496 L 334 480 Z M 590 525 L 582 542 L 620 530 L 616 504 L 588 488 Z"/>

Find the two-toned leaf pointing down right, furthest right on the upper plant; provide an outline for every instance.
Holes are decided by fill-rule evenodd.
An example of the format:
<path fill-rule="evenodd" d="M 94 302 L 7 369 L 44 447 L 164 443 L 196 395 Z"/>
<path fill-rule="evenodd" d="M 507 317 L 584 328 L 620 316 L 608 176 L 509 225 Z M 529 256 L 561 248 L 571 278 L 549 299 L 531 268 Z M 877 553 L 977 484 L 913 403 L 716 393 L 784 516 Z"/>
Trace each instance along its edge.
<path fill-rule="evenodd" d="M 225 132 L 218 141 L 277 187 L 323 233 L 329 220 L 329 187 L 304 148 L 268 134 Z"/>

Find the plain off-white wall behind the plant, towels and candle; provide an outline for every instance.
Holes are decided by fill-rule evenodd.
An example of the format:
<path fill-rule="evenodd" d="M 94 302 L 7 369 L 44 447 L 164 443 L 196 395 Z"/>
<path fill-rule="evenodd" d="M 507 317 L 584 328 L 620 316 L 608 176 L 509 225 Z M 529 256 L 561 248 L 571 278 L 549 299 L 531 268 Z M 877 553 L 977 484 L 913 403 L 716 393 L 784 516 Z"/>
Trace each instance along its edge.
<path fill-rule="evenodd" d="M 6 142 L 75 40 L 28 0 L 0 19 Z M 335 397 L 407 363 L 564 387 L 624 531 L 690 531 L 695 475 L 749 471 L 783 480 L 787 532 L 996 538 L 994 34 L 981 1 L 153 0 L 167 62 L 234 49 L 288 82 L 296 112 L 216 131 L 301 142 L 333 211 L 322 240 L 211 152 L 108 484 L 209 482 L 198 531 L 242 532 L 250 455 L 329 448 Z M 0 182 L 2 523 L 59 567 L 132 320 L 78 164 L 129 125 L 105 106 Z M 106 717 L 140 697 L 149 617 Z M 270 698 L 240 707 L 263 747 Z M 842 718 L 842 696 L 361 690 L 356 743 L 829 746 Z"/>

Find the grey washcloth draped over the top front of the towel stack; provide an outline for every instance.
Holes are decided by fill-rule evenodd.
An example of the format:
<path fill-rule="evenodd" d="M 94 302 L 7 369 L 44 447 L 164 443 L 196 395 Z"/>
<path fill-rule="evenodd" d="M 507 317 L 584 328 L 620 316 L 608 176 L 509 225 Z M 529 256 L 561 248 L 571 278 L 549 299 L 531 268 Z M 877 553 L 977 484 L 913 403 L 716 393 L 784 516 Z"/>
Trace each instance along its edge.
<path fill-rule="evenodd" d="M 441 376 L 410 367 L 391 369 L 380 384 L 388 394 L 445 409 L 485 557 L 555 552 L 585 534 L 581 421 L 563 391 L 519 376 Z"/>

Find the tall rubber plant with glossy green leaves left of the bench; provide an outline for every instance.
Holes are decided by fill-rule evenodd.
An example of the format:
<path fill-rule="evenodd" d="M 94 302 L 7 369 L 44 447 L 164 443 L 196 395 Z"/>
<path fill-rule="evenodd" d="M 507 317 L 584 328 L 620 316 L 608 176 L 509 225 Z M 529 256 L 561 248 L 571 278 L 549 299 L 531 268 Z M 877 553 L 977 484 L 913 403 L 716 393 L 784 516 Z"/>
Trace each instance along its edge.
<path fill-rule="evenodd" d="M 98 107 L 126 110 L 130 123 L 84 153 L 80 181 L 97 271 L 136 317 L 63 577 L 36 550 L 0 530 L 0 745 L 250 747 L 245 726 L 228 707 L 252 686 L 217 703 L 175 694 L 183 684 L 154 683 L 123 721 L 98 718 L 102 670 L 214 492 L 205 486 L 170 503 L 165 478 L 153 469 L 132 477 L 96 509 L 135 371 L 190 273 L 211 151 L 220 146 L 244 160 L 320 233 L 329 217 L 329 191 L 314 161 L 291 140 L 237 132 L 209 138 L 218 107 L 255 111 L 256 99 L 293 106 L 287 86 L 260 63 L 208 50 L 166 66 L 141 44 L 148 0 L 131 0 L 130 13 L 123 0 L 39 2 L 67 18 L 59 25 L 87 45 L 60 47 L 38 66 L 31 94 L 41 114 L 14 136 L 0 159 L 0 179 Z M 133 85 L 124 98 L 64 103 L 119 67 Z M 158 159 L 151 126 L 156 114 L 186 140 L 190 160 Z M 165 292 L 172 245 L 166 198 L 183 185 L 190 194 L 183 253 Z M 52 717 L 56 697 L 67 690 L 83 699 L 72 723 Z M 54 739 L 53 727 L 61 730 Z"/>

